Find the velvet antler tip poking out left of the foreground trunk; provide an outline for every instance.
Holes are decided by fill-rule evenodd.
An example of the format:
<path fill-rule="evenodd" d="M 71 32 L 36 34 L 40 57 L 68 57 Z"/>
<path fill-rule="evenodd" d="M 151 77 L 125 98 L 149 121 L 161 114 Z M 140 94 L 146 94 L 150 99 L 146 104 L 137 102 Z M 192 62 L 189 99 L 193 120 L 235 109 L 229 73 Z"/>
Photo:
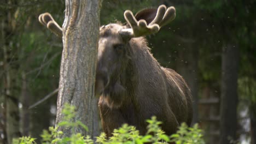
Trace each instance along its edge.
<path fill-rule="evenodd" d="M 62 28 L 58 25 L 58 23 L 53 19 L 53 16 L 49 13 L 40 14 L 39 22 L 50 29 L 54 34 L 58 37 L 62 37 Z"/>

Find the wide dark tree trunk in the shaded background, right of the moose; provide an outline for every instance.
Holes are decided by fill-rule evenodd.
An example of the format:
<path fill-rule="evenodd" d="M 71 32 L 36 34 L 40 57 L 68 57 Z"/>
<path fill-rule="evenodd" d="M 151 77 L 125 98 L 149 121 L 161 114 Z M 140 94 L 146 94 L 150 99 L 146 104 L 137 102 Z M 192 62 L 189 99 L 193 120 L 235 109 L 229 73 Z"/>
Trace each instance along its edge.
<path fill-rule="evenodd" d="M 220 99 L 220 141 L 236 140 L 238 47 L 226 45 L 222 51 L 222 88 Z"/>

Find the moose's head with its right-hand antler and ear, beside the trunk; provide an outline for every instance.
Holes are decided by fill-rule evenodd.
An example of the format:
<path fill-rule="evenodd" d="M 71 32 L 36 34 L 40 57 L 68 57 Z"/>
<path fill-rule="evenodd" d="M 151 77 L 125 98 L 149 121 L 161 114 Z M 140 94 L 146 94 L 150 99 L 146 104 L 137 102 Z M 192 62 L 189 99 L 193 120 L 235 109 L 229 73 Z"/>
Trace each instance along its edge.
<path fill-rule="evenodd" d="M 172 21 L 175 17 L 174 7 L 166 8 L 160 5 L 158 9 L 144 9 L 135 16 L 130 10 L 124 13 L 127 25 L 110 23 L 100 28 L 98 41 L 98 63 L 96 74 L 96 93 L 110 91 L 121 92 L 120 76 L 126 71 L 132 58 L 133 38 L 153 34 L 160 27 Z"/>

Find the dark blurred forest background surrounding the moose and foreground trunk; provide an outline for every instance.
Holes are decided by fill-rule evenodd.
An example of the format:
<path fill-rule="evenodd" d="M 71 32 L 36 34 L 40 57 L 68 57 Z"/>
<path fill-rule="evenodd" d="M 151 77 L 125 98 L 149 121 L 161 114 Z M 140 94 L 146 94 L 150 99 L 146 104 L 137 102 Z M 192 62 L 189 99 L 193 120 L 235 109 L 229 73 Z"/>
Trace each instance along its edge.
<path fill-rule="evenodd" d="M 148 45 L 158 62 L 176 70 L 193 95 L 193 123 L 206 143 L 256 143 L 256 2 L 104 0 L 101 25 L 125 22 L 124 11 L 165 4 L 176 19 Z M 65 1 L 0 3 L 0 143 L 55 124 L 62 41 L 38 22 L 48 11 L 62 25 Z M 254 89 L 255 88 L 255 89 Z M 100 119 L 98 122 L 100 125 Z"/>

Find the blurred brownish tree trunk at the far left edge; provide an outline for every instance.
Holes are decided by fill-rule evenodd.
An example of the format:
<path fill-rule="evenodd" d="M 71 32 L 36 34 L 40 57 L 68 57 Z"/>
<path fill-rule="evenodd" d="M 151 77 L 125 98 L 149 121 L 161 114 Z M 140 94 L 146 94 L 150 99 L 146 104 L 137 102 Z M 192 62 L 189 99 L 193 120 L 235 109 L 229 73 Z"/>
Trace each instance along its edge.
<path fill-rule="evenodd" d="M 18 5 L 18 1 L 5 0 L 4 4 Z M 18 59 L 16 45 L 11 45 L 11 38 L 16 33 L 16 20 L 14 14 L 16 8 L 4 9 L 2 20 L 2 35 L 3 35 L 3 57 L 4 57 L 4 109 L 5 109 L 5 130 L 7 142 L 12 143 L 14 138 L 21 136 L 20 134 L 20 116 L 19 116 L 19 97 L 16 92 L 15 76 L 19 69 L 19 65 L 12 63 Z M 16 92 L 16 93 L 15 93 Z"/>

